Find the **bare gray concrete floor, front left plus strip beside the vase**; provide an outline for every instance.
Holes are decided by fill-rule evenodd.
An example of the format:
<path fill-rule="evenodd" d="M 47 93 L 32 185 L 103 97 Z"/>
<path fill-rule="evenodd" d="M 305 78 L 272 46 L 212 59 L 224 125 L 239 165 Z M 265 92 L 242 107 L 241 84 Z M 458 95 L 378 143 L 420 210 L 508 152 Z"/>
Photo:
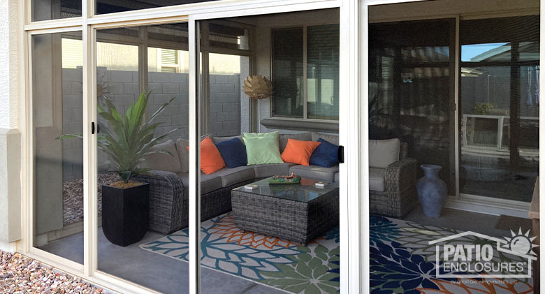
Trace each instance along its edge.
<path fill-rule="evenodd" d="M 406 217 L 406 221 L 453 228 L 472 230 L 494 237 L 510 236 L 509 231 L 494 228 L 500 216 L 465 212 L 444 208 L 441 217 L 426 217 L 421 206 L 416 207 Z M 159 233 L 148 232 L 138 244 L 157 240 Z M 188 264 L 158 253 L 140 249 L 138 244 L 119 247 L 111 244 L 99 229 L 99 270 L 117 277 L 133 281 L 161 293 L 187 293 Z M 63 256 L 78 263 L 83 262 L 82 233 L 66 237 L 42 247 L 50 253 Z M 201 268 L 201 286 L 203 293 L 282 293 L 252 281 L 233 277 L 222 272 Z"/>

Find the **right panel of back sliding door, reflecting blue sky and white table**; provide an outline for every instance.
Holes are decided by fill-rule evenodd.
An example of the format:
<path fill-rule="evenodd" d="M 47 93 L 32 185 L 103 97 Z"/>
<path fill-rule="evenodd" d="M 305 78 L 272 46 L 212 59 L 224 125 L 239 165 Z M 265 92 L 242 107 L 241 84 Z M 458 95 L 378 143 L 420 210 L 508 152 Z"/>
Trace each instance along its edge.
<path fill-rule="evenodd" d="M 460 193 L 530 202 L 539 175 L 539 16 L 460 21 Z"/>

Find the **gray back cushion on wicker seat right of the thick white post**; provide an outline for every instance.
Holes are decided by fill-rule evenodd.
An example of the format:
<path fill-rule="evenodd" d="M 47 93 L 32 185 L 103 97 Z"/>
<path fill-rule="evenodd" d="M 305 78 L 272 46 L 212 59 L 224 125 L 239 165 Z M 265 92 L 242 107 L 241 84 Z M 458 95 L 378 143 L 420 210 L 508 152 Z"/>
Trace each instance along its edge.
<path fill-rule="evenodd" d="M 390 163 L 399 161 L 399 139 L 369 140 L 369 167 L 387 168 Z"/>

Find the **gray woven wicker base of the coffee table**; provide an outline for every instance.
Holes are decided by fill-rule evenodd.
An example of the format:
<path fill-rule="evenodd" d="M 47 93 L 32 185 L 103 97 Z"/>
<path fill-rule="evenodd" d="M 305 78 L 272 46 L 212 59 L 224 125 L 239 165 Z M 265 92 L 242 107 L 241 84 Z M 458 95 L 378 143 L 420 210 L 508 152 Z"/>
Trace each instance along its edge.
<path fill-rule="evenodd" d="M 233 190 L 231 205 L 241 230 L 304 245 L 339 223 L 339 189 L 308 203 Z"/>

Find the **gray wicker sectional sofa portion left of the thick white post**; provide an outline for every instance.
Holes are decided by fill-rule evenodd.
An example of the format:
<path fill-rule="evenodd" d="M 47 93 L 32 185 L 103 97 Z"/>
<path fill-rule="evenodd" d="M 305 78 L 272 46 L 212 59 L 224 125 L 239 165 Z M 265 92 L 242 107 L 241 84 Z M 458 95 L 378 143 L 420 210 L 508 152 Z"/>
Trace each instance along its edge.
<path fill-rule="evenodd" d="M 241 136 L 237 136 L 241 138 Z M 230 140 L 234 137 L 215 137 L 214 142 Z M 335 145 L 339 144 L 337 135 L 321 133 L 299 133 L 279 135 L 280 152 L 286 148 L 288 138 L 296 140 L 318 140 L 323 138 Z M 147 168 L 152 170 L 147 175 L 140 175 L 136 180 L 150 183 L 150 223 L 149 230 L 169 234 L 186 228 L 189 212 L 189 152 L 187 140 L 168 140 L 158 145 L 173 154 L 152 154 L 146 158 Z M 174 157 L 174 158 L 173 158 Z M 177 164 L 177 163 L 180 164 Z M 321 166 L 299 166 L 294 163 L 260 164 L 222 168 L 210 175 L 201 172 L 201 220 L 211 219 L 231 211 L 231 190 L 256 182 L 273 175 L 296 175 L 327 182 L 338 182 L 339 166 L 324 168 Z"/>

